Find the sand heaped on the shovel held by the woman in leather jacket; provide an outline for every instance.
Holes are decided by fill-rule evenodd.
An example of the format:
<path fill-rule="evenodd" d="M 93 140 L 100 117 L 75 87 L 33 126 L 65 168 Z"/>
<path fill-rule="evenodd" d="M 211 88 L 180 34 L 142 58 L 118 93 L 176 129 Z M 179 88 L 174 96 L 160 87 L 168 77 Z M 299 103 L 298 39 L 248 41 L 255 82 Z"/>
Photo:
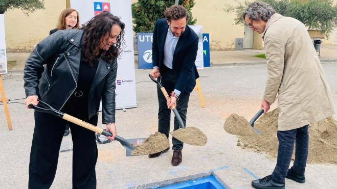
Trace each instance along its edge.
<path fill-rule="evenodd" d="M 134 145 L 132 143 L 131 145 L 136 148 L 131 152 L 131 155 L 148 155 L 158 153 L 170 147 L 170 143 L 165 134 L 160 132 L 150 134 L 150 136 L 145 139 L 141 145 Z"/>

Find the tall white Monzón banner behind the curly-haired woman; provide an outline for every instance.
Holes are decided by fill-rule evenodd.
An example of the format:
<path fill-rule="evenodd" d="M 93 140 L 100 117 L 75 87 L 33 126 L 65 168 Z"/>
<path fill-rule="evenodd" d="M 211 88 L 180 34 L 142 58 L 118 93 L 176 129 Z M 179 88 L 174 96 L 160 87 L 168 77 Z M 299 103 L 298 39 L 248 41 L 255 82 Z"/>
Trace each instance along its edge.
<path fill-rule="evenodd" d="M 124 40 L 126 47 L 121 53 L 122 58 L 118 60 L 116 109 L 137 107 L 131 0 L 71 0 L 70 6 L 78 11 L 80 24 L 84 24 L 102 11 L 110 11 L 125 23 Z"/>

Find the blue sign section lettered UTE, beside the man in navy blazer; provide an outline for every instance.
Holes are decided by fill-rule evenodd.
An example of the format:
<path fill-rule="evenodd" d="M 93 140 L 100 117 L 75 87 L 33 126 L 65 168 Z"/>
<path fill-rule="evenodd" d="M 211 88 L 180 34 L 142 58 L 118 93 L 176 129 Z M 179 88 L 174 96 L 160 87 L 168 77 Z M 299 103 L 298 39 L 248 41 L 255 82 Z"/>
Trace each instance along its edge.
<path fill-rule="evenodd" d="M 139 69 L 151 69 L 153 33 L 137 33 Z"/>

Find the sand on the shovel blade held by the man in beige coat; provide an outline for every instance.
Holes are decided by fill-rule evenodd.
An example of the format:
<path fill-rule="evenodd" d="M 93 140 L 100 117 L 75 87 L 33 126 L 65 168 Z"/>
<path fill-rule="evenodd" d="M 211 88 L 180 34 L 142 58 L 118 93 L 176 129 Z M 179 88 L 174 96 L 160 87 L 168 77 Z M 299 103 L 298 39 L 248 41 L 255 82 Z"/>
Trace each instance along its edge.
<path fill-rule="evenodd" d="M 251 136 L 257 134 L 249 122 L 244 119 L 244 117 L 238 116 L 237 114 L 231 114 L 224 122 L 223 128 L 226 132 L 238 136 Z"/>

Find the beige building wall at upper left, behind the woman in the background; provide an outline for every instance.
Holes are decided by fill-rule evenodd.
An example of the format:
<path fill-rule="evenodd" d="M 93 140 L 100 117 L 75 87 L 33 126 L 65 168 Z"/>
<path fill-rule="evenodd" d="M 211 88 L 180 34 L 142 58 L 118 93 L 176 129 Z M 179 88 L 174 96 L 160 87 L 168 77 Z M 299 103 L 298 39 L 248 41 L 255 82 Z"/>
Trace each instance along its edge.
<path fill-rule="evenodd" d="M 37 10 L 26 16 L 20 9 L 5 12 L 5 35 L 7 52 L 31 52 L 34 44 L 55 29 L 65 0 L 44 1 L 45 10 Z"/>

